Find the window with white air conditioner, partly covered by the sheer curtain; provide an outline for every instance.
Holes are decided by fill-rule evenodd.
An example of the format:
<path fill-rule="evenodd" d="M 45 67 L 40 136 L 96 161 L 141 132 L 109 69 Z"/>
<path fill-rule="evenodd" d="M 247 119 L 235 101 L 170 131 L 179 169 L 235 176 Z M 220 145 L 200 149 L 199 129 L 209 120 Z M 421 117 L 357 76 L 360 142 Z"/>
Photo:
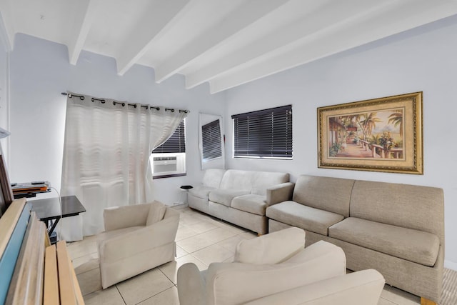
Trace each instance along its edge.
<path fill-rule="evenodd" d="M 154 179 L 186 175 L 186 125 L 181 121 L 168 140 L 151 154 Z"/>

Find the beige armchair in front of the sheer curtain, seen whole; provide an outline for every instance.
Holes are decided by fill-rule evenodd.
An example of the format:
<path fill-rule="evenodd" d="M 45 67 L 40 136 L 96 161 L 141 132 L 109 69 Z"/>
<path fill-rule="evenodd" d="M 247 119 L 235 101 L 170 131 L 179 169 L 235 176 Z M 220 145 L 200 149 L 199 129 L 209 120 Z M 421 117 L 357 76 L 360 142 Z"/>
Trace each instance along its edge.
<path fill-rule="evenodd" d="M 173 261 L 179 212 L 159 201 L 104 210 L 97 235 L 103 289 Z"/>

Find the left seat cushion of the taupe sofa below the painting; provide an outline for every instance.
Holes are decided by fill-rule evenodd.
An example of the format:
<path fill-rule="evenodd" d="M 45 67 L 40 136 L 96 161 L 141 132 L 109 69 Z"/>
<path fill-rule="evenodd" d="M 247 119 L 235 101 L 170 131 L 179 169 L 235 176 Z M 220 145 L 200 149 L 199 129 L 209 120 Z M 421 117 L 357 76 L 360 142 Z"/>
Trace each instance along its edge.
<path fill-rule="evenodd" d="M 273 204 L 266 209 L 268 218 L 283 224 L 298 226 L 298 228 L 327 236 L 328 227 L 344 219 L 343 215 L 303 206 L 295 201 L 284 201 Z"/>

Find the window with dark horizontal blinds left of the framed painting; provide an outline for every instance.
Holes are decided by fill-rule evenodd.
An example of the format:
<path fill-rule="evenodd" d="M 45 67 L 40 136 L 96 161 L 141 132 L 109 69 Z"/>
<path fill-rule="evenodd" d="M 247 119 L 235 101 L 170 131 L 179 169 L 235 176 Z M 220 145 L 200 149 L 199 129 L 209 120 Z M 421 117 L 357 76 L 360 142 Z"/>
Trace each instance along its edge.
<path fill-rule="evenodd" d="M 292 159 L 292 105 L 231 118 L 234 157 Z"/>

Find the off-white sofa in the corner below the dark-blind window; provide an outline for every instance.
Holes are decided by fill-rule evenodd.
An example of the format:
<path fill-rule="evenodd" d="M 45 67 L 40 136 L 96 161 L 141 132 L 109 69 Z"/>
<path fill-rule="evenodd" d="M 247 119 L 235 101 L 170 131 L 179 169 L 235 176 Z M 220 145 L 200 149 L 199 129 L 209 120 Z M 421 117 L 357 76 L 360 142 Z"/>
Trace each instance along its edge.
<path fill-rule="evenodd" d="M 207 169 L 202 184 L 189 190 L 191 208 L 266 234 L 266 207 L 291 196 L 286 173 Z"/>

